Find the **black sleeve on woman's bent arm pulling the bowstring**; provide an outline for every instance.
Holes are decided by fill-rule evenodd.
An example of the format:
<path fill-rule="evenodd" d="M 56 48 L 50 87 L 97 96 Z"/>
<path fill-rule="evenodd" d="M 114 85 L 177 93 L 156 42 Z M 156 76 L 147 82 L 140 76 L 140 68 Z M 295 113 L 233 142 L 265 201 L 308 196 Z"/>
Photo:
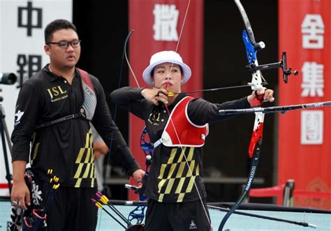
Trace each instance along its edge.
<path fill-rule="evenodd" d="M 139 117 L 145 121 L 145 105 L 149 102 L 147 102 L 147 100 L 145 100 L 145 98 L 140 94 L 142 89 L 143 88 L 122 87 L 112 91 L 110 98 L 112 103 L 119 105 L 119 107 L 124 108 L 124 110 L 131 112 L 136 117 Z"/>

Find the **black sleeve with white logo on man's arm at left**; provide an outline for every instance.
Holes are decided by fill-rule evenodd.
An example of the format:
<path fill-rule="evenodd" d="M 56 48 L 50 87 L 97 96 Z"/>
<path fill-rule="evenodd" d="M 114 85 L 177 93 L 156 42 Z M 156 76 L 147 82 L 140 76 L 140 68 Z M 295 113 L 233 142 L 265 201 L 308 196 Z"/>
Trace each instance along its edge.
<path fill-rule="evenodd" d="M 12 161 L 29 162 L 31 137 L 41 108 L 38 99 L 38 90 L 32 84 L 26 82 L 22 85 L 16 102 L 14 131 L 11 135 Z"/>

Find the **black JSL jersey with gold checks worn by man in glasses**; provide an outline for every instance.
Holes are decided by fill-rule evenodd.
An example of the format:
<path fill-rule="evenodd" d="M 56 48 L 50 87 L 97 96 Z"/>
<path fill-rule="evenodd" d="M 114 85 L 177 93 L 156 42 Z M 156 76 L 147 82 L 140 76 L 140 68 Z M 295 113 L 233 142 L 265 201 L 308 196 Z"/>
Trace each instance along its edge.
<path fill-rule="evenodd" d="M 138 169 L 126 142 L 112 121 L 100 82 L 89 75 L 96 94 L 96 109 L 91 120 L 105 143 L 112 144 L 112 156 L 132 174 Z M 93 137 L 89 121 L 68 119 L 57 124 L 36 127 L 80 112 L 84 102 L 82 79 L 78 70 L 72 84 L 54 75 L 45 66 L 24 82 L 17 98 L 13 142 L 13 161 L 31 161 L 42 180 L 47 170 L 59 177 L 61 186 L 96 187 Z M 31 143 L 31 156 L 30 154 Z"/>

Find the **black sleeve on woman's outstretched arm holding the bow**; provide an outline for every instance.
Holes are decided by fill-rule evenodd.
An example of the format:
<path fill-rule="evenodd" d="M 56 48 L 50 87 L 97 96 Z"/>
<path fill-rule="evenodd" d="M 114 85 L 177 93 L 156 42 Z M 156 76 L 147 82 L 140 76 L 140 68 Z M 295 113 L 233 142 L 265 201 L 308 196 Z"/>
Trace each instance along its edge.
<path fill-rule="evenodd" d="M 219 115 L 219 110 L 242 109 L 248 107 L 250 107 L 250 105 L 247 97 L 221 104 L 210 103 L 203 98 L 195 98 L 190 101 L 187 112 L 189 114 L 189 119 L 191 119 L 194 124 L 203 125 L 233 117 L 233 115 L 221 116 Z"/>

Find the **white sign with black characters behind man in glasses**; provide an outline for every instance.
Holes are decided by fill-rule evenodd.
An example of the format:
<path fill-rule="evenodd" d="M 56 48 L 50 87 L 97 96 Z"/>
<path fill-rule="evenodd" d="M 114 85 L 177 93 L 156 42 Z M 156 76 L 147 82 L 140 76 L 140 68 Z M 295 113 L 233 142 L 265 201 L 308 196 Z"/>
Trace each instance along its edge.
<path fill-rule="evenodd" d="M 43 50 L 44 29 L 52 20 L 72 20 L 72 0 L 0 0 L 0 73 L 15 73 L 14 85 L 0 84 L 0 102 L 5 112 L 8 135 L 14 128 L 15 103 L 22 83 L 49 62 Z M 7 140 L 7 139 L 6 139 Z M 2 142 L 1 142 L 1 145 Z M 8 145 L 6 144 L 7 149 Z M 8 164 L 11 170 L 10 152 Z M 0 186 L 7 184 L 3 150 L 0 147 Z M 0 195 L 9 195 L 8 188 Z"/>

